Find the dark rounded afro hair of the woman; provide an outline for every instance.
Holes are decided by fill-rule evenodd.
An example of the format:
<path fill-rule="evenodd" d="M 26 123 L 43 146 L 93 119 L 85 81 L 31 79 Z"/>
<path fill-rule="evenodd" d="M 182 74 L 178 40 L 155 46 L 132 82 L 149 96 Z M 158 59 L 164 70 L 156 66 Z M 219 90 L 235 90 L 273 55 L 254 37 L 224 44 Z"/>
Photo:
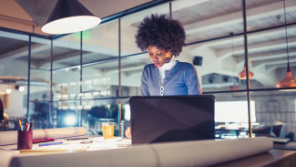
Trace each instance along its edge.
<path fill-rule="evenodd" d="M 170 51 L 178 57 L 182 47 L 186 46 L 186 35 L 178 20 L 169 19 L 166 15 L 152 14 L 146 16 L 138 26 L 136 43 L 143 52 L 149 46 Z"/>

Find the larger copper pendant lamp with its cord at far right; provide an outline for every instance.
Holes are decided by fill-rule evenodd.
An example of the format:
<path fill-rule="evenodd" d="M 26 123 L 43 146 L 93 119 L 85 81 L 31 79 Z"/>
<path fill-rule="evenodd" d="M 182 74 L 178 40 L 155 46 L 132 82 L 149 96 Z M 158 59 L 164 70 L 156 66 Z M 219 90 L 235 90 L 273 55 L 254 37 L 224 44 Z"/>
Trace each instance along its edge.
<path fill-rule="evenodd" d="M 287 24 L 287 18 L 286 18 L 286 6 L 285 6 L 285 0 L 283 0 L 283 6 L 284 6 L 284 13 L 285 13 L 285 24 Z M 296 87 L 296 80 L 293 77 L 291 73 L 290 63 L 289 63 L 289 48 L 288 48 L 288 33 L 287 33 L 287 26 L 286 29 L 286 45 L 287 45 L 287 74 L 286 77 L 283 78 L 280 82 L 278 82 L 275 85 L 275 88 L 289 88 L 289 87 Z M 296 89 L 283 89 L 280 91 L 295 91 Z"/>

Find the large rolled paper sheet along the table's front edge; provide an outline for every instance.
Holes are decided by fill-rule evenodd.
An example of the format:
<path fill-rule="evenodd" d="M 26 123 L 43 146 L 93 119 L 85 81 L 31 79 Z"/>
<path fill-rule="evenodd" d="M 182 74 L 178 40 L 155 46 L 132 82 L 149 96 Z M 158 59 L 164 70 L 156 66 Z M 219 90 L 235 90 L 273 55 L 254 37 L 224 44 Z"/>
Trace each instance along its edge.
<path fill-rule="evenodd" d="M 10 167 L 209 166 L 270 151 L 273 142 L 265 137 L 224 141 L 182 141 L 142 144 L 132 148 L 15 157 Z"/>

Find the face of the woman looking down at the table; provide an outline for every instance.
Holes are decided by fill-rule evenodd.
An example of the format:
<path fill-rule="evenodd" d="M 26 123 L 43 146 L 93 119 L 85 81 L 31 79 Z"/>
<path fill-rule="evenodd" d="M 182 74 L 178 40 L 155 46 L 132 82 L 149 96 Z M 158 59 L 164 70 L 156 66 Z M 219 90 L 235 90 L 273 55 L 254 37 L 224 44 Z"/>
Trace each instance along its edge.
<path fill-rule="evenodd" d="M 149 57 L 153 61 L 153 64 L 157 67 L 160 68 L 162 67 L 165 63 L 168 63 L 168 61 L 171 58 L 170 52 L 159 49 L 158 47 L 148 47 L 149 51 Z"/>

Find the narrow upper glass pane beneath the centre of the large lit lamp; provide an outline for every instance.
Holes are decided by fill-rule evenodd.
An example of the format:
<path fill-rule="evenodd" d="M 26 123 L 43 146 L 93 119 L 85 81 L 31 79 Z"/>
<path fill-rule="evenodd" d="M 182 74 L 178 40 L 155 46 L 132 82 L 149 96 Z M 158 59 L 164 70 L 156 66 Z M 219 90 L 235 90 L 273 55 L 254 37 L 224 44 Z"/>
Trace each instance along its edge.
<path fill-rule="evenodd" d="M 80 65 L 80 32 L 54 40 L 53 69 L 77 65 Z"/>

